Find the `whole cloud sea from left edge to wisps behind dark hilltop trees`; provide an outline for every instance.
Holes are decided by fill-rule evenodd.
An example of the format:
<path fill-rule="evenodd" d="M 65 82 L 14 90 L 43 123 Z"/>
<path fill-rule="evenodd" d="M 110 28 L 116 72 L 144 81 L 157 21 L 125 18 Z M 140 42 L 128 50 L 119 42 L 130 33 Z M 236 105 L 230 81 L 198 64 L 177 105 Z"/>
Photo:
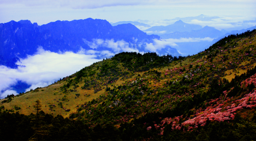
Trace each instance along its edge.
<path fill-rule="evenodd" d="M 134 39 L 134 42 L 136 41 Z M 85 42 L 91 48 L 90 50 L 80 48 L 78 52 L 56 53 L 38 47 L 35 54 L 24 59 L 20 58 L 20 61 L 16 63 L 19 65 L 17 69 L 0 66 L 0 98 L 4 98 L 8 94 L 17 95 L 17 91 L 13 89 L 13 85 L 16 85 L 17 82 L 30 85 L 26 89 L 29 91 L 50 85 L 60 78 L 72 75 L 86 66 L 102 61 L 103 58 L 115 56 L 120 52 L 144 54 L 144 51 L 139 51 L 139 48 L 143 48 L 145 52 L 158 52 L 162 48 L 176 46 L 172 41 L 166 40 L 154 40 L 153 43 L 145 43 L 145 46 L 129 44 L 124 40 L 94 39 L 90 42 L 85 40 Z M 97 50 L 99 48 L 103 48 L 103 50 Z"/>

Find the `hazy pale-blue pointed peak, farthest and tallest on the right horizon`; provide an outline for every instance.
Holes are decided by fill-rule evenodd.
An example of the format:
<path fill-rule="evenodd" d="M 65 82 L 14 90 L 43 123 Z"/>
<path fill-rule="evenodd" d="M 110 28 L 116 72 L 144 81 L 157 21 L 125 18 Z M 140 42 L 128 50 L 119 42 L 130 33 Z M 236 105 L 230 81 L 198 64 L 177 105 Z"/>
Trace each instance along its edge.
<path fill-rule="evenodd" d="M 189 32 L 189 31 L 198 30 L 198 29 L 202 29 L 202 27 L 199 25 L 195 25 L 195 24 L 186 24 L 186 23 L 182 22 L 182 20 L 178 20 L 174 24 L 171 24 L 168 26 L 153 26 L 145 31 L 147 33 L 151 32 L 151 33 L 155 33 L 155 34 L 157 34 L 157 32 L 160 32 L 160 31 L 165 31 L 164 33 L 168 34 L 168 33 L 173 33 L 176 31 Z"/>

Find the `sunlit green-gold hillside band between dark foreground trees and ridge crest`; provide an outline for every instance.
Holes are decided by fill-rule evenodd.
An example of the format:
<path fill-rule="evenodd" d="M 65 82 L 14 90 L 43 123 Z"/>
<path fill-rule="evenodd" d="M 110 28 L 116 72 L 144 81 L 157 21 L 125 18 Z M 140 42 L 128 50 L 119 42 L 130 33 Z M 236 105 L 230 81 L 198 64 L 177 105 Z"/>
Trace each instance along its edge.
<path fill-rule="evenodd" d="M 186 121 L 193 115 L 188 110 L 196 113 L 205 100 L 222 94 L 200 99 L 214 81 L 225 84 L 226 79 L 230 82 L 256 66 L 255 43 L 253 31 L 223 38 L 189 57 L 123 52 L 48 87 L 4 99 L 3 103 L 0 100 L 0 107 L 28 115 L 35 112 L 33 105 L 40 100 L 44 112 L 83 119 L 91 126 L 106 122 L 119 125 L 154 112 L 173 113 L 166 117 L 187 114 Z M 197 103 L 186 103 L 196 97 Z"/>

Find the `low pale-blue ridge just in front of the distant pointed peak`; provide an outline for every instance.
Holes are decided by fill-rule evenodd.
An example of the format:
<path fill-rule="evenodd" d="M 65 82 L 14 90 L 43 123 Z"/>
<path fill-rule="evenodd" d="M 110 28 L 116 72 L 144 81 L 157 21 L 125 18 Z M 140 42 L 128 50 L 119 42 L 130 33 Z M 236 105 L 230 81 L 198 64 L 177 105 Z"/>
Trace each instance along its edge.
<path fill-rule="evenodd" d="M 218 38 L 223 33 L 214 27 L 209 27 L 205 26 L 202 29 L 199 30 L 192 30 L 190 32 L 174 32 L 174 33 L 169 33 L 169 34 L 162 34 L 160 35 L 161 38 L 163 39 L 168 39 L 168 38 L 205 38 L 205 37 L 210 37 L 210 38 Z"/>

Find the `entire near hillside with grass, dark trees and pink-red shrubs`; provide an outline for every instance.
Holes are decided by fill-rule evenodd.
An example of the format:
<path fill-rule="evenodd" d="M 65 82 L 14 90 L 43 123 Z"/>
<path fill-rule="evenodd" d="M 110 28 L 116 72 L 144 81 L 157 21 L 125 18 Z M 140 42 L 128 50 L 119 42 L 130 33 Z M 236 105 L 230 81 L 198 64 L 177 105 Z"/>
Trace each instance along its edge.
<path fill-rule="evenodd" d="M 255 38 L 256 30 L 230 35 L 178 58 L 122 52 L 6 96 L 1 138 L 254 140 Z"/>

